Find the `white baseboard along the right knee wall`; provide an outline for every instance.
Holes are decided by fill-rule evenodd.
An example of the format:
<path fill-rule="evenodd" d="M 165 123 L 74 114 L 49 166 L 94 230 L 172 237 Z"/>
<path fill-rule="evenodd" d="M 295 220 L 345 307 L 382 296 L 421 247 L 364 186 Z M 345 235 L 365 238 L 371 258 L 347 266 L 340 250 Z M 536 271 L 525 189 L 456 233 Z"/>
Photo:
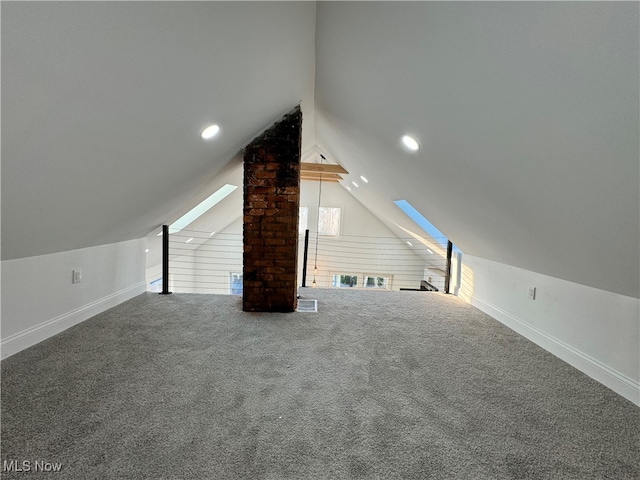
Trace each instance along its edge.
<path fill-rule="evenodd" d="M 640 406 L 640 383 L 476 296 L 471 304 L 582 373 Z"/>

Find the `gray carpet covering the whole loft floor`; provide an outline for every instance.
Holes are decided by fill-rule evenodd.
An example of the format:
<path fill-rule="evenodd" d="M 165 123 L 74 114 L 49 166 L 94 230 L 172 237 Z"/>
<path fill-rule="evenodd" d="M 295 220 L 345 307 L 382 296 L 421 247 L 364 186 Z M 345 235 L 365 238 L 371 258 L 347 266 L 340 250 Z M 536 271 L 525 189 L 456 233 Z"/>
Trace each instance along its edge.
<path fill-rule="evenodd" d="M 302 294 L 318 313 L 146 293 L 4 360 L 2 460 L 56 479 L 640 478 L 640 408 L 461 300 Z"/>

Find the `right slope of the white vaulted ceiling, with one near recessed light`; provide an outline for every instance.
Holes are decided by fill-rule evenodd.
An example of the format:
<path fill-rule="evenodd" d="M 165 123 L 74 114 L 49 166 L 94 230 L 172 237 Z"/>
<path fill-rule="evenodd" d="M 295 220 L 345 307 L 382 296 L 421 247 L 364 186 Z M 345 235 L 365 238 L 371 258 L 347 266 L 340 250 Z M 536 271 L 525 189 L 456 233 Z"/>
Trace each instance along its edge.
<path fill-rule="evenodd" d="M 638 297 L 638 10 L 319 2 L 318 147 L 387 223 L 403 198 L 465 253 Z"/>

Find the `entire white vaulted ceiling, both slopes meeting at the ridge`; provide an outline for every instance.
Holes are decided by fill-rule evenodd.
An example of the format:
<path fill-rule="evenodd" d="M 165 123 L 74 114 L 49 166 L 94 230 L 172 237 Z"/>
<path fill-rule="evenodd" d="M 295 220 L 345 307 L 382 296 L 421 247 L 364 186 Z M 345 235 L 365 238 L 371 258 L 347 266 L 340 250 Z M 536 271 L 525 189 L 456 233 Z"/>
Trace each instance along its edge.
<path fill-rule="evenodd" d="M 3 259 L 170 223 L 302 102 L 385 223 L 404 198 L 467 254 L 640 296 L 638 3 L 1 8 Z"/>

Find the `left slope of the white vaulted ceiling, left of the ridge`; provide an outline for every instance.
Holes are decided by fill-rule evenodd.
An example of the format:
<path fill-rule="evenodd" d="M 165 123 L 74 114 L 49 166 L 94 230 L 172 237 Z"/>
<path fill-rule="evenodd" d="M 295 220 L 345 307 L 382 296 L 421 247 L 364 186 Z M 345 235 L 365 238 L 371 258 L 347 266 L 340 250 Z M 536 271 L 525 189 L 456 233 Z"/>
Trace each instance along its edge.
<path fill-rule="evenodd" d="M 143 237 L 277 117 L 313 116 L 313 3 L 1 8 L 3 259 Z"/>

